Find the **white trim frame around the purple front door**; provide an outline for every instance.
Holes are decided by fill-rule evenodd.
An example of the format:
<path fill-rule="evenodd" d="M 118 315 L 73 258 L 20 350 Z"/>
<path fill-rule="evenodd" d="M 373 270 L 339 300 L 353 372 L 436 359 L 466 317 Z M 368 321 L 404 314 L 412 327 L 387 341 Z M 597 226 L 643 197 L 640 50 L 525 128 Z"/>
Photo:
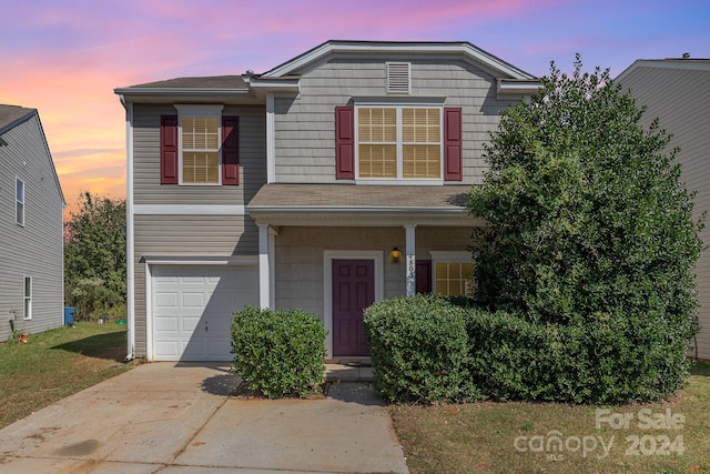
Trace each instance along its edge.
<path fill-rule="evenodd" d="M 375 303 L 385 294 L 385 265 L 382 250 L 325 250 L 323 252 L 323 325 L 326 359 L 333 359 L 333 260 L 374 260 L 375 261 Z"/>

